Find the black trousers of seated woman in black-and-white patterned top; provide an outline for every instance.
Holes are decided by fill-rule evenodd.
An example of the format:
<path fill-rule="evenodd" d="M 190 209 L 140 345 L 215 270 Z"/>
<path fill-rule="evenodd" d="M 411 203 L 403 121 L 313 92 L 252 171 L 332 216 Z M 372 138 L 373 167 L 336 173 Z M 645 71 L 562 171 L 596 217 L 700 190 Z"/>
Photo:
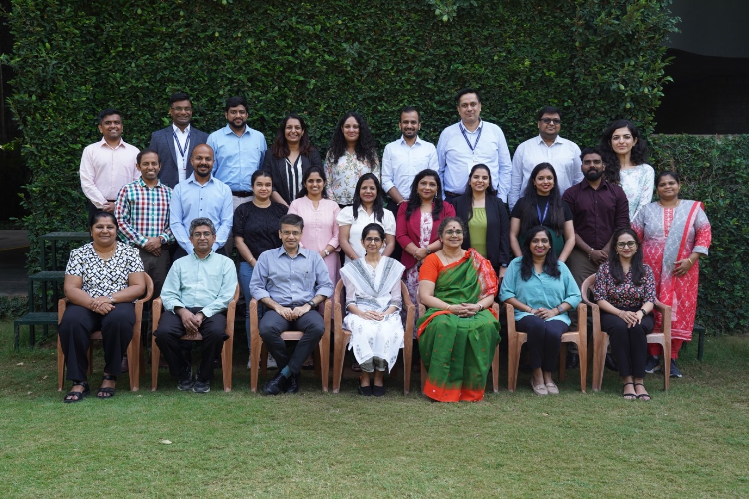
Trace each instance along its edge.
<path fill-rule="evenodd" d="M 88 347 L 91 334 L 101 331 L 104 348 L 104 373 L 122 374 L 122 357 L 133 339 L 136 323 L 135 305 L 118 303 L 101 315 L 80 305 L 68 304 L 58 328 L 60 345 L 65 354 L 66 379 L 88 381 Z"/>

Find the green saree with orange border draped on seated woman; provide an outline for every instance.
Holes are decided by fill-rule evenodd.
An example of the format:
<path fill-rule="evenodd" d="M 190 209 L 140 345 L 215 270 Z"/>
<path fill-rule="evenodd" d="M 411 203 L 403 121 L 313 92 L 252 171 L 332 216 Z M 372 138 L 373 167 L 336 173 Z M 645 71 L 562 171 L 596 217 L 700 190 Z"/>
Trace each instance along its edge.
<path fill-rule="evenodd" d="M 434 296 L 449 304 L 476 303 L 497 293 L 497 275 L 473 248 L 440 270 Z M 484 398 L 486 378 L 499 340 L 494 310 L 461 318 L 430 308 L 416 323 L 419 351 L 426 368 L 424 393 L 440 402 Z"/>

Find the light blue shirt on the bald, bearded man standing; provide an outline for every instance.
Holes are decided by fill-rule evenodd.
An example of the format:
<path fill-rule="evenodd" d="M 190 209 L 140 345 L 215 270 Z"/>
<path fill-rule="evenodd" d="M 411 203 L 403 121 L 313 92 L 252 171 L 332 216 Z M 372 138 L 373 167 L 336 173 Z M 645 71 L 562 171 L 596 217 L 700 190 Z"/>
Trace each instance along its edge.
<path fill-rule="evenodd" d="M 189 224 L 198 217 L 207 217 L 216 225 L 216 242 L 213 251 L 226 243 L 234 219 L 234 206 L 231 202 L 231 189 L 213 176 L 201 185 L 195 180 L 195 173 L 175 186 L 172 203 L 169 204 L 169 227 L 179 245 L 192 253 L 189 240 Z"/>

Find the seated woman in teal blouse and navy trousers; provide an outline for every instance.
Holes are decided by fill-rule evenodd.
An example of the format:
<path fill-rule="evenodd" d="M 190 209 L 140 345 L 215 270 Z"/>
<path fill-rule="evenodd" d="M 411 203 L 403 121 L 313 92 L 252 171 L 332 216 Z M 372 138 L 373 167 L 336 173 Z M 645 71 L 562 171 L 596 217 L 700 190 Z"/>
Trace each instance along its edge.
<path fill-rule="evenodd" d="M 523 254 L 509 264 L 500 300 L 515 307 L 515 329 L 528 334 L 528 355 L 536 395 L 557 395 L 551 371 L 557 365 L 568 313 L 582 297 L 571 272 L 551 248 L 551 230 L 536 225 L 528 232 Z"/>

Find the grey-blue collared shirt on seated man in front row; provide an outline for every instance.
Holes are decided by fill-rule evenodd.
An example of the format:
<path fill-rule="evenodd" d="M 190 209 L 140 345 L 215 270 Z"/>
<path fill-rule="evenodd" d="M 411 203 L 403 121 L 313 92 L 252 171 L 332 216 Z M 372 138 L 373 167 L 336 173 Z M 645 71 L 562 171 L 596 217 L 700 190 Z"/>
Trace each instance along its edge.
<path fill-rule="evenodd" d="M 300 246 L 294 258 L 286 253 L 283 246 L 268 251 L 258 257 L 249 293 L 260 301 L 268 298 L 283 307 L 300 307 L 316 295 L 325 298 L 333 295 L 327 266 L 316 251 Z"/>

